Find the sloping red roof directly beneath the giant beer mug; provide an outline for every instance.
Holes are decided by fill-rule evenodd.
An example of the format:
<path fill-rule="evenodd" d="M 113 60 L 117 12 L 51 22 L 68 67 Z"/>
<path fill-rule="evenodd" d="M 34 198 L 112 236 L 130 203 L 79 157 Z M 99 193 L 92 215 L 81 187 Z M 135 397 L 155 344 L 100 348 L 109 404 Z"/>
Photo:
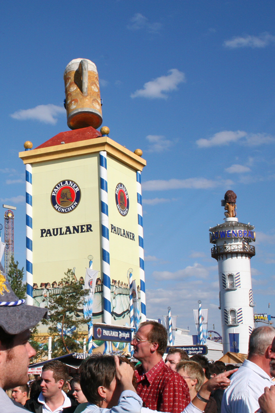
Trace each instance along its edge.
<path fill-rule="evenodd" d="M 38 148 L 46 148 L 48 146 L 60 145 L 61 142 L 70 143 L 70 142 L 79 142 L 85 141 L 87 139 L 98 138 L 101 136 L 101 133 L 96 129 L 88 126 L 87 128 L 74 129 L 72 131 L 60 132 L 57 135 L 50 138 L 48 141 L 37 146 Z"/>

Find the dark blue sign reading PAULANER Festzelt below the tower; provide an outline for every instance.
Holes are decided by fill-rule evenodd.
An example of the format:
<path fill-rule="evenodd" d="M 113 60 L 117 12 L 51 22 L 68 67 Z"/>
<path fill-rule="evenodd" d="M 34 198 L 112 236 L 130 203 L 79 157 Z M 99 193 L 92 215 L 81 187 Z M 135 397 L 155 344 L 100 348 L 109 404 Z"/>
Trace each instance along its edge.
<path fill-rule="evenodd" d="M 93 338 L 94 340 L 129 343 L 132 339 L 132 329 L 108 324 L 94 324 Z"/>

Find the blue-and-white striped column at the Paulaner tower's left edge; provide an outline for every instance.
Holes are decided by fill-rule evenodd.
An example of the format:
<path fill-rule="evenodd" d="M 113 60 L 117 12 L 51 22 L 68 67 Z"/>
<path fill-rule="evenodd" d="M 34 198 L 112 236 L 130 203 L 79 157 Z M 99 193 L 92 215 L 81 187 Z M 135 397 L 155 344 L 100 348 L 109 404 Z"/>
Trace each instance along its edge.
<path fill-rule="evenodd" d="M 26 164 L 26 303 L 28 305 L 33 304 L 32 285 L 32 167 L 31 164 Z"/>

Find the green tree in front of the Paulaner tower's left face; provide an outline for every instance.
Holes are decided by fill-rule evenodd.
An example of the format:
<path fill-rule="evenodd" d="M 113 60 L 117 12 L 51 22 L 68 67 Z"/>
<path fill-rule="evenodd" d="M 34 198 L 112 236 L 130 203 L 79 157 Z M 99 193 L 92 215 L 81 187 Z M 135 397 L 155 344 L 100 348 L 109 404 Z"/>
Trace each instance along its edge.
<path fill-rule="evenodd" d="M 42 321 L 49 325 L 48 333 L 52 335 L 52 358 L 79 351 L 77 328 L 89 321 L 76 316 L 76 309 L 82 307 L 88 291 L 76 281 L 71 269 L 67 270 L 62 282 L 62 292 L 48 297 L 49 320 Z"/>

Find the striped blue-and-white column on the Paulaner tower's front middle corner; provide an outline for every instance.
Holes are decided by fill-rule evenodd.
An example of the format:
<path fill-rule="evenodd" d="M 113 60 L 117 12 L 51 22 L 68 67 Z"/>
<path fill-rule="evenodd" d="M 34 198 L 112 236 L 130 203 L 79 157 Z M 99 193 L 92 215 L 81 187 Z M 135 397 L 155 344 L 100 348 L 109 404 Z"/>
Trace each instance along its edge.
<path fill-rule="evenodd" d="M 107 154 L 99 152 L 100 204 L 101 204 L 101 248 L 103 273 L 103 321 L 111 324 L 111 284 L 110 284 L 110 247 L 107 185 Z"/>

